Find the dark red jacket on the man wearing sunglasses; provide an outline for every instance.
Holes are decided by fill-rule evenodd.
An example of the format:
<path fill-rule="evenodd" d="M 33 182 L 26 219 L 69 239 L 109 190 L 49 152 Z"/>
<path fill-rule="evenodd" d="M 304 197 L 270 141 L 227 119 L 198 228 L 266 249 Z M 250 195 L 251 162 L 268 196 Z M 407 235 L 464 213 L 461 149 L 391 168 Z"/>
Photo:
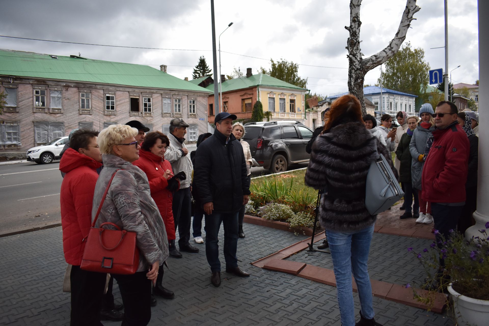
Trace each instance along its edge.
<path fill-rule="evenodd" d="M 434 130 L 433 137 L 423 167 L 422 199 L 434 203 L 463 202 L 470 152 L 467 134 L 454 122 L 446 129 Z"/>

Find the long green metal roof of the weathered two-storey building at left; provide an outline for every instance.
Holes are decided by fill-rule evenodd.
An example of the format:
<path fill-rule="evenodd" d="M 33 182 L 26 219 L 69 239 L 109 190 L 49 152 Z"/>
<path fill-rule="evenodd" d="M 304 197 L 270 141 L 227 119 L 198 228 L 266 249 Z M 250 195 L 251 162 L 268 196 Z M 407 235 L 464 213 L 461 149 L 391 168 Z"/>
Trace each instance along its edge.
<path fill-rule="evenodd" d="M 57 57 L 57 59 L 52 56 Z M 209 93 L 148 65 L 0 49 L 0 75 Z"/>

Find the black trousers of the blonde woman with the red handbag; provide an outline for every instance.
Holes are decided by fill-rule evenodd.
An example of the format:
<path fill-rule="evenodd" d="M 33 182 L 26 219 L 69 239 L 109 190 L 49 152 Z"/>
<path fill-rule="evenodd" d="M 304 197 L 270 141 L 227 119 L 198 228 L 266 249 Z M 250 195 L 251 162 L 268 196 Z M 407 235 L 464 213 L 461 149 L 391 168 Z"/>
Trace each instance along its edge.
<path fill-rule="evenodd" d="M 146 273 L 114 274 L 124 304 L 121 326 L 145 326 L 151 320 L 151 281 L 146 278 Z"/>

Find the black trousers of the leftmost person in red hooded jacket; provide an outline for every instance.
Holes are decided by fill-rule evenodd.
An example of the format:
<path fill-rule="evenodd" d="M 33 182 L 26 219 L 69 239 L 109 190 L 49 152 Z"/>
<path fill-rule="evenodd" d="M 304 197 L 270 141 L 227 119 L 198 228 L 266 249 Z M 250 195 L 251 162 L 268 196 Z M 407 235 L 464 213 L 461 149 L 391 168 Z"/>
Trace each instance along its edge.
<path fill-rule="evenodd" d="M 102 326 L 100 308 L 107 274 L 71 267 L 71 326 Z"/>

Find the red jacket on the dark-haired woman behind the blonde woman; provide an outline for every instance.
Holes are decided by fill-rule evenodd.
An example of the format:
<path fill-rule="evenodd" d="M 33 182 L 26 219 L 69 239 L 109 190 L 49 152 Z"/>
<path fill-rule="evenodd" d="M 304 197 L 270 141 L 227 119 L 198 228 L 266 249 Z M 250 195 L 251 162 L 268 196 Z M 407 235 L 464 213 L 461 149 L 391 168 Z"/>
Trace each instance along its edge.
<path fill-rule="evenodd" d="M 135 160 L 133 164 L 143 170 L 148 177 L 151 197 L 155 200 L 159 214 L 165 223 L 166 236 L 168 240 L 175 240 L 175 221 L 172 210 L 173 194 L 166 189 L 168 180 L 163 177 L 166 170 L 170 170 L 173 174 L 172 165 L 167 160 L 143 149 L 139 150 L 139 159 Z"/>

